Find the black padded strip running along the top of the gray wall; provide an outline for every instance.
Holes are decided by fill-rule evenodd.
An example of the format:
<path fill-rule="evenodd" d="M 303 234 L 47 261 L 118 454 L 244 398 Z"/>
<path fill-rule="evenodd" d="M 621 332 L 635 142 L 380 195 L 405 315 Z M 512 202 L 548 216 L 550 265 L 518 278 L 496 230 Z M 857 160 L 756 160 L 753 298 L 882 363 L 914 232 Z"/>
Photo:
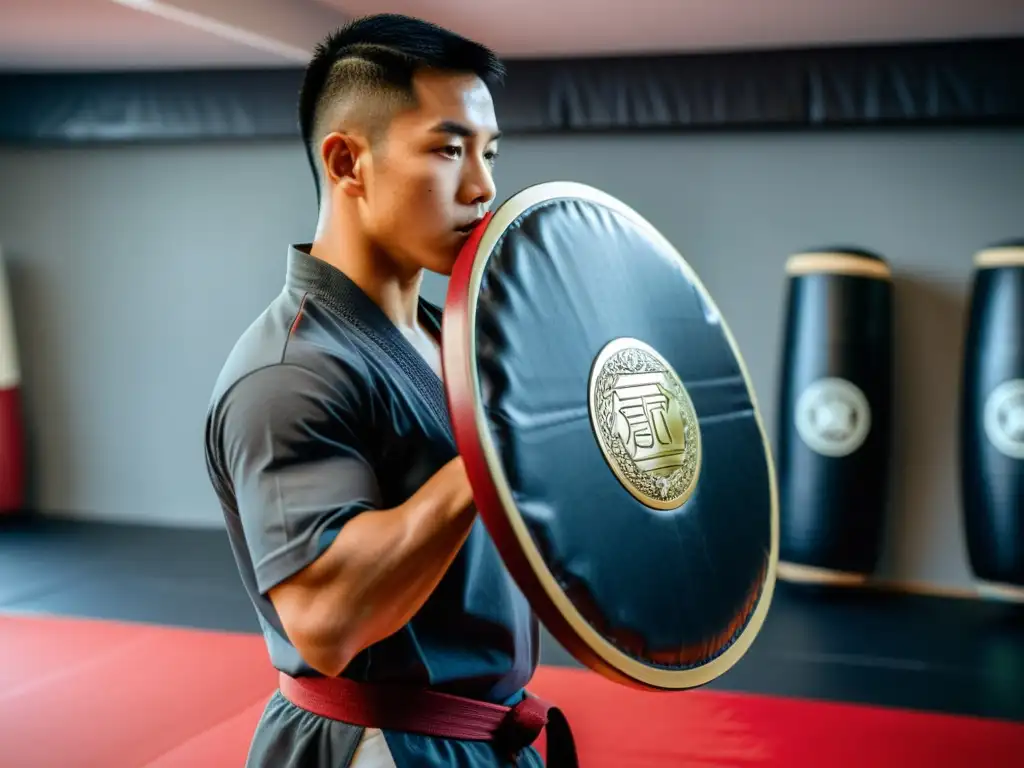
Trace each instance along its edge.
<path fill-rule="evenodd" d="M 1024 38 L 519 60 L 509 133 L 1024 125 Z M 294 70 L 0 73 L 0 141 L 297 136 Z"/>

